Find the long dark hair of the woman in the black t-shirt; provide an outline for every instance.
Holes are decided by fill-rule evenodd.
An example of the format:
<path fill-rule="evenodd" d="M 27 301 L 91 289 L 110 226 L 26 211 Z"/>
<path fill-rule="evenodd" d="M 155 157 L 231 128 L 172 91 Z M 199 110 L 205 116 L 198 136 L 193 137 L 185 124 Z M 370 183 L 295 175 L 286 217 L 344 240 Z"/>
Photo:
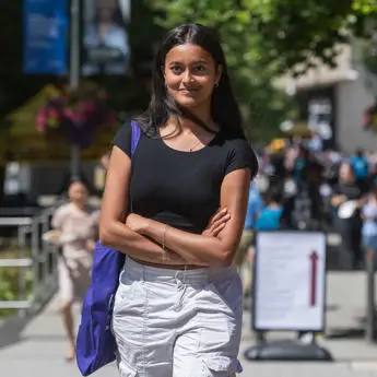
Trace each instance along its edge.
<path fill-rule="evenodd" d="M 158 136 L 158 128 L 166 123 L 169 116 L 185 117 L 197 125 L 213 132 L 208 125 L 189 110 L 179 107 L 167 94 L 164 78 L 165 58 L 168 51 L 178 45 L 192 44 L 202 47 L 211 54 L 216 66 L 222 66 L 222 75 L 219 86 L 212 94 L 211 115 L 222 130 L 232 137 L 244 137 L 241 116 L 234 97 L 226 61 L 220 40 L 215 33 L 200 24 L 188 23 L 170 31 L 156 54 L 153 64 L 152 98 L 149 108 L 137 118 L 141 129 L 151 137 Z"/>

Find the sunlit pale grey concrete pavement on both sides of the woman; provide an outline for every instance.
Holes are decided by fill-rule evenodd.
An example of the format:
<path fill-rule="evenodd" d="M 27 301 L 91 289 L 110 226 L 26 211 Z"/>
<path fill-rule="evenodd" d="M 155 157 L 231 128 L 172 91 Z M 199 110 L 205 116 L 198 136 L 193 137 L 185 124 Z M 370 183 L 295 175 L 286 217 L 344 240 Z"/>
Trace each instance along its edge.
<path fill-rule="evenodd" d="M 335 363 L 250 363 L 243 352 L 254 343 L 250 317 L 245 314 L 240 358 L 241 376 L 257 377 L 377 377 L 377 346 L 363 339 L 365 309 L 364 275 L 361 272 L 329 273 L 327 337 L 319 339 Z M 0 328 L 0 376 L 79 377 L 75 364 L 62 356 L 66 342 L 57 301 L 32 320 L 12 319 Z M 269 338 L 290 338 L 293 333 L 270 333 Z M 110 365 L 97 377 L 116 377 Z M 200 377 L 200 376 L 198 376 Z"/>

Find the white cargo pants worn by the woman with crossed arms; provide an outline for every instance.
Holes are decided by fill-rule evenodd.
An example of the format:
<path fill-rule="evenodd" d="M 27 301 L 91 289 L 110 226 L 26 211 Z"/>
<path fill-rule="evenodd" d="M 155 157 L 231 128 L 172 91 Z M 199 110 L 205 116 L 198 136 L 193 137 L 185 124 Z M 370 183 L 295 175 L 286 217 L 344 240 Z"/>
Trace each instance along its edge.
<path fill-rule="evenodd" d="M 170 270 L 127 257 L 113 314 L 120 376 L 240 373 L 241 301 L 235 267 Z"/>

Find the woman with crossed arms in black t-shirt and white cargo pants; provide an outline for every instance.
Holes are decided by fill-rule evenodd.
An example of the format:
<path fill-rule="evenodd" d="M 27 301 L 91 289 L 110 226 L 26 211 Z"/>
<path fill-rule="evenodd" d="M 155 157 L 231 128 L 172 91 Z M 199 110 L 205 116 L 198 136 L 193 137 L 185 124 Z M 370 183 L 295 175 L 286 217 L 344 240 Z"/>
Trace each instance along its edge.
<path fill-rule="evenodd" d="M 258 162 L 211 30 L 168 33 L 137 122 L 132 167 L 130 125 L 115 138 L 99 223 L 102 244 L 126 255 L 113 311 L 120 375 L 234 376 L 243 292 L 233 258 Z"/>

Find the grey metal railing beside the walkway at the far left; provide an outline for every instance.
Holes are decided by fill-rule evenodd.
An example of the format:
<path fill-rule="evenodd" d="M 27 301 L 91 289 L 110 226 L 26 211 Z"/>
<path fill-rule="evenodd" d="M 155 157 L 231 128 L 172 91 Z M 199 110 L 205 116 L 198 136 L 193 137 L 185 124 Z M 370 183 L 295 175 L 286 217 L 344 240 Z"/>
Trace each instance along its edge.
<path fill-rule="evenodd" d="M 50 228 L 50 219 L 57 207 L 43 210 L 34 216 L 0 217 L 0 228 L 16 229 L 17 252 L 12 258 L 1 258 L 0 269 L 19 269 L 17 297 L 0 301 L 0 309 L 38 310 L 58 288 L 58 250 L 43 241 L 43 234 Z M 27 272 L 31 281 L 27 281 Z M 0 271 L 1 276 L 1 271 Z"/>

